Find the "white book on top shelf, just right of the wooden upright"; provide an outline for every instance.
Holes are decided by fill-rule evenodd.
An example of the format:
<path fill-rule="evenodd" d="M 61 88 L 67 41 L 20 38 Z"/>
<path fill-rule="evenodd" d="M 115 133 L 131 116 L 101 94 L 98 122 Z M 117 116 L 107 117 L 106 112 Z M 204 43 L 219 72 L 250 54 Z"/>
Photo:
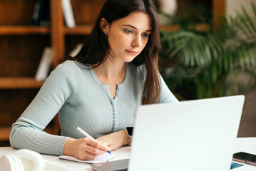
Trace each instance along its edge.
<path fill-rule="evenodd" d="M 61 0 L 61 4 L 66 26 L 69 28 L 74 28 L 76 26 L 76 23 L 73 16 L 71 0 Z"/>

